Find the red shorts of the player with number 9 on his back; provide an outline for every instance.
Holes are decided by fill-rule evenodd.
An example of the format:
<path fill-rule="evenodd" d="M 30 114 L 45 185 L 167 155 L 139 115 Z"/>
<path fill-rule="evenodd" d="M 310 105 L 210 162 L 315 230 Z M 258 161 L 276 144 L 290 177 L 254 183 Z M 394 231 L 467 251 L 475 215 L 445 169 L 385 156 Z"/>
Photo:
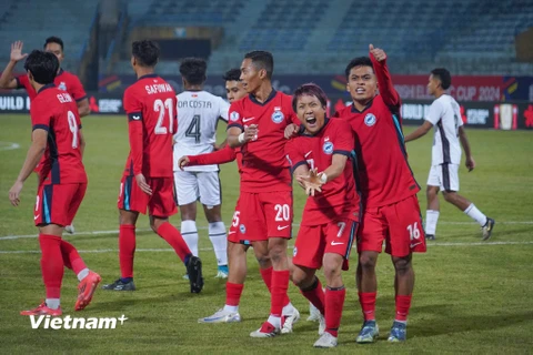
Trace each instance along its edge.
<path fill-rule="evenodd" d="M 33 211 L 36 226 L 71 224 L 83 201 L 86 190 L 86 183 L 39 185 Z"/>

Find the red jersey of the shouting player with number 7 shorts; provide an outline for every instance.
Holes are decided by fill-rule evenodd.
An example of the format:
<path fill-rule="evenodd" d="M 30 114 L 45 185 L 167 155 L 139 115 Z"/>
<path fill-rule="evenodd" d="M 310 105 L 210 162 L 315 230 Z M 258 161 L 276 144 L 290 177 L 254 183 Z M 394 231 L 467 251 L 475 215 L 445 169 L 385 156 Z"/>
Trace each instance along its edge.
<path fill-rule="evenodd" d="M 318 225 L 339 219 L 359 221 L 360 199 L 353 176 L 352 154 L 354 138 L 350 125 L 342 120 L 328 120 L 314 135 L 302 134 L 285 145 L 286 159 L 292 170 L 302 164 L 319 172 L 331 165 L 333 154 L 349 159 L 340 176 L 325 183 L 322 192 L 308 197 L 303 210 L 302 225 Z"/>

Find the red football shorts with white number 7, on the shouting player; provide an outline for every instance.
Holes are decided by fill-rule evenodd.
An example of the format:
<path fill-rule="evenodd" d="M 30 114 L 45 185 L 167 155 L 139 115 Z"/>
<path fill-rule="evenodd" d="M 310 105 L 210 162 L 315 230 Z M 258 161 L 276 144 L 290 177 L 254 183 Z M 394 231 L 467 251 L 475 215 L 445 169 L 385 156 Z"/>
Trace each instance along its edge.
<path fill-rule="evenodd" d="M 346 271 L 358 225 L 356 221 L 341 219 L 326 224 L 300 226 L 294 243 L 292 263 L 299 266 L 320 268 L 324 254 L 334 253 L 344 257 L 342 270 Z"/>

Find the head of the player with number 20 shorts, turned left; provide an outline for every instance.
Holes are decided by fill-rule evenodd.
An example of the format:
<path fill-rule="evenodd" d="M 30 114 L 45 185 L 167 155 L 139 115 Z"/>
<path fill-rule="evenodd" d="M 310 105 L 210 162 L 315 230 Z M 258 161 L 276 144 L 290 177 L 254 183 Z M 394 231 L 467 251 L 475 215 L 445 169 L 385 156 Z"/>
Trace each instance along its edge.
<path fill-rule="evenodd" d="M 266 51 L 253 51 L 244 55 L 241 64 L 241 81 L 247 92 L 255 92 L 263 81 L 272 79 L 274 58 Z"/>

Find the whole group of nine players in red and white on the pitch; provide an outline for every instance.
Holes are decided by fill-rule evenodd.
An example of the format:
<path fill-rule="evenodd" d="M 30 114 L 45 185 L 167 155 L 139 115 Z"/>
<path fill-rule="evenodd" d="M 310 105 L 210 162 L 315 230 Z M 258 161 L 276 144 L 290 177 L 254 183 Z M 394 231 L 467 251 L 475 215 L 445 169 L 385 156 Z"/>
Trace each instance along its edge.
<path fill-rule="evenodd" d="M 22 43 L 16 42 L 11 61 L 0 77 L 0 87 L 23 87 L 32 99 L 32 144 L 9 191 L 14 206 L 20 203 L 24 181 L 39 165 L 33 219 L 39 229 L 46 301 L 37 308 L 22 311 L 22 315 L 62 314 L 63 266 L 80 281 L 76 311 L 91 303 L 101 282 L 76 247 L 62 240 L 67 227 L 73 233 L 72 220 L 87 190 L 80 118 L 89 113 L 79 80 L 60 68 L 62 50 L 58 38 L 49 38 L 44 51 L 34 50 L 29 55 L 22 54 Z M 215 277 L 227 278 L 224 305 L 200 318 L 200 323 L 241 322 L 239 305 L 248 272 L 247 252 L 252 247 L 271 306 L 266 320 L 250 336 L 293 332 L 300 312 L 288 296 L 292 281 L 316 313 L 319 338 L 314 347 L 335 347 L 346 295 L 343 273 L 350 270 L 355 245 L 358 260 L 351 268 L 355 273 L 349 277 L 355 276 L 363 316 L 355 342 L 373 343 L 379 336 L 375 265 L 385 244 L 394 267 L 395 292 L 395 317 L 388 339 L 404 342 L 414 288 L 413 253 L 426 251 L 416 197 L 420 186 L 408 162 L 405 142 L 425 134 L 433 125 L 440 145 L 433 146 L 434 166 L 428 187 L 430 239 L 434 239 L 436 229 L 439 189 L 446 201 L 480 223 L 484 240 L 491 236 L 494 220 L 456 193 L 461 159 L 457 136 L 467 155 L 467 168 L 473 169 L 474 162 L 462 124 L 456 122 L 456 103 L 444 93 L 451 80 L 447 71 L 432 72 L 429 88 L 438 100 L 426 123 L 404 139 L 401 99 L 388 70 L 386 53 L 372 44 L 368 57 L 348 63 L 346 90 L 353 102 L 332 116 L 328 116 L 328 98 L 316 84 L 304 83 L 292 97 L 274 90 L 274 59 L 266 51 L 247 53 L 240 69 L 224 75 L 229 103 L 203 91 L 204 60 L 182 61 L 184 91 L 177 95 L 155 74 L 159 57 L 157 43 L 132 43 L 131 65 L 138 80 L 123 98 L 130 153 L 117 205 L 120 277 L 103 285 L 103 290 L 135 291 L 135 225 L 139 214 L 148 212 L 153 232 L 172 246 L 184 264 L 191 293 L 200 293 L 205 275 L 195 224 L 200 201 L 217 257 Z M 27 74 L 11 78 L 16 63 L 23 59 Z M 227 140 L 221 145 L 215 144 L 219 120 L 228 124 Z M 459 133 L 454 134 L 454 130 Z M 450 145 L 454 150 L 451 156 Z M 240 195 L 227 232 L 221 217 L 218 164 L 234 160 Z M 299 187 L 301 192 L 293 191 Z M 306 203 L 290 257 L 293 193 L 304 195 Z M 178 205 L 180 231 L 169 222 Z M 316 274 L 320 268 L 322 282 Z"/>

